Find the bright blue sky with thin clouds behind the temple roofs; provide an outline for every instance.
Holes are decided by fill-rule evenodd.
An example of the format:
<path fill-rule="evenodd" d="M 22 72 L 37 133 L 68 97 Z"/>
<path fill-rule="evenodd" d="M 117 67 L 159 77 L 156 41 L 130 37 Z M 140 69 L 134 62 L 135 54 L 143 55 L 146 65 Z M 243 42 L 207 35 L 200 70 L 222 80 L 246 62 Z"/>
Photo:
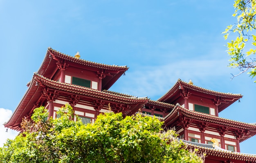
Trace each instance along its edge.
<path fill-rule="evenodd" d="M 241 102 L 219 116 L 255 123 L 256 79 L 243 74 L 231 81 L 231 73 L 239 71 L 227 67 L 221 33 L 235 22 L 233 4 L 232 0 L 0 0 L 1 124 L 16 109 L 49 46 L 67 55 L 79 51 L 85 60 L 129 66 L 110 88 L 120 93 L 157 100 L 179 78 L 210 90 L 241 93 Z M 2 140 L 13 137 L 4 128 L 0 133 Z M 255 142 L 252 137 L 240 143 L 241 152 L 256 154 Z"/>

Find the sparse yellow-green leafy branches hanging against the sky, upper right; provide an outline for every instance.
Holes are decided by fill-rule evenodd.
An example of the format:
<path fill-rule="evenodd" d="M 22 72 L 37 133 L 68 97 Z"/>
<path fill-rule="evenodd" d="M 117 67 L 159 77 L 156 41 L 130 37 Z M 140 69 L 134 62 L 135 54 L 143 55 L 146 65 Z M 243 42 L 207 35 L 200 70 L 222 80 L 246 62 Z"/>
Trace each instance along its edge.
<path fill-rule="evenodd" d="M 235 40 L 227 43 L 228 54 L 231 57 L 229 64 L 232 68 L 239 68 L 241 73 L 248 72 L 252 77 L 256 75 L 256 0 L 235 0 L 235 12 L 237 18 L 234 25 L 227 26 L 225 39 L 230 33 L 236 33 Z M 247 44 L 247 46 L 245 46 Z M 234 77 L 237 75 L 233 75 Z M 254 81 L 256 82 L 256 81 Z"/>

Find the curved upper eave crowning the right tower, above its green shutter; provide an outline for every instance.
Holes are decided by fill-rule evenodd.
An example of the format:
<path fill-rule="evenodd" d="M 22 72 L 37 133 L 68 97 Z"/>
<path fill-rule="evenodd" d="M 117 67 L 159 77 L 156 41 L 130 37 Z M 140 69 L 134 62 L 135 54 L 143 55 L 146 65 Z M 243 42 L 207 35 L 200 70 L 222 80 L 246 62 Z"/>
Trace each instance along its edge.
<path fill-rule="evenodd" d="M 178 79 L 178 81 L 174 84 L 174 86 L 168 90 L 168 92 L 166 94 L 164 94 L 162 97 L 160 97 L 159 99 L 157 99 L 157 101 L 161 101 L 161 102 L 166 102 L 171 100 L 171 98 L 174 95 L 180 94 L 180 86 L 182 86 L 185 89 L 188 90 L 193 90 L 195 92 L 198 93 L 202 93 L 203 95 L 211 95 L 213 98 L 216 97 L 221 97 L 221 98 L 227 98 L 227 99 L 232 99 L 232 101 L 229 101 L 228 103 L 221 103 L 218 106 L 218 112 L 221 112 L 222 110 L 224 110 L 225 108 L 227 108 L 228 106 L 230 106 L 231 104 L 233 104 L 235 101 L 237 101 L 238 99 L 242 98 L 243 95 L 241 94 L 233 94 L 233 93 L 221 93 L 221 92 L 217 92 L 217 91 L 213 91 L 213 90 L 208 90 L 208 89 L 204 89 L 195 85 L 191 85 L 188 84 L 184 81 L 182 81 L 181 79 Z"/>

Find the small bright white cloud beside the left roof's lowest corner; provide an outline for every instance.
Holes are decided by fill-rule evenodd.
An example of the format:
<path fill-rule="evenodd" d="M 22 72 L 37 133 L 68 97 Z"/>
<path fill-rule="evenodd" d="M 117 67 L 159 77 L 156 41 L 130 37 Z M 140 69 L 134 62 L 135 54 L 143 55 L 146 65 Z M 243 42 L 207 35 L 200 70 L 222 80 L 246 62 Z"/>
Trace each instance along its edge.
<path fill-rule="evenodd" d="M 18 135 L 17 131 L 8 129 L 8 132 L 6 132 L 7 128 L 4 128 L 4 122 L 8 121 L 11 115 L 11 110 L 0 108 L 0 147 L 3 146 L 7 139 L 14 139 Z"/>

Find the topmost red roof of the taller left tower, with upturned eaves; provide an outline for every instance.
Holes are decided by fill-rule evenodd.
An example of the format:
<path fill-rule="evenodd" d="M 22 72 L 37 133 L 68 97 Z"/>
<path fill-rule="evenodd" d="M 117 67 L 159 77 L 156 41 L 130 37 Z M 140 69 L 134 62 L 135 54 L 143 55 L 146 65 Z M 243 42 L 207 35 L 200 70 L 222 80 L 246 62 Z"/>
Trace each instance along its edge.
<path fill-rule="evenodd" d="M 68 61 L 74 65 L 78 65 L 79 67 L 83 67 L 86 69 L 93 68 L 97 70 L 109 70 L 111 72 L 111 76 L 106 76 L 102 79 L 102 89 L 109 89 L 116 81 L 128 70 L 127 66 L 115 66 L 115 65 L 107 65 L 100 64 L 96 62 L 90 62 L 83 59 L 77 59 L 70 55 L 63 54 L 52 48 L 48 48 L 43 63 L 38 69 L 38 74 L 43 75 L 47 78 L 52 76 L 53 70 L 57 69 L 57 62 Z"/>

